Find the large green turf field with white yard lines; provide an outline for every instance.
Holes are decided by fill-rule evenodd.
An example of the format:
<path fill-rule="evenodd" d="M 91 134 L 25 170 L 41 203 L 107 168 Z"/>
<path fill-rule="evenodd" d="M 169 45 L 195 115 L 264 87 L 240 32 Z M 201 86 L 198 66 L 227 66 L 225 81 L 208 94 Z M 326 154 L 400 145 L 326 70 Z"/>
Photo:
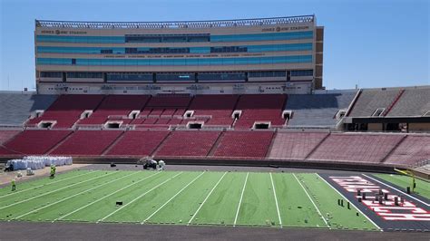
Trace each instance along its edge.
<path fill-rule="evenodd" d="M 1 188 L 0 220 L 377 230 L 339 198 L 315 173 L 74 170 Z"/>

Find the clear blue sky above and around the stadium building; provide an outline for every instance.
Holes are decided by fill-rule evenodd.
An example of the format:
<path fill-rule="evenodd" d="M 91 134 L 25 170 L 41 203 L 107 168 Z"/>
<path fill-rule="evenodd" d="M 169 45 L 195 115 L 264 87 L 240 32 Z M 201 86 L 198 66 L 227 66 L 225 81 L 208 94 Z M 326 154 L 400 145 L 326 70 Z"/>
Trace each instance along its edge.
<path fill-rule="evenodd" d="M 34 19 L 216 20 L 316 14 L 327 89 L 427 85 L 428 0 L 0 0 L 0 90 L 34 88 Z"/>

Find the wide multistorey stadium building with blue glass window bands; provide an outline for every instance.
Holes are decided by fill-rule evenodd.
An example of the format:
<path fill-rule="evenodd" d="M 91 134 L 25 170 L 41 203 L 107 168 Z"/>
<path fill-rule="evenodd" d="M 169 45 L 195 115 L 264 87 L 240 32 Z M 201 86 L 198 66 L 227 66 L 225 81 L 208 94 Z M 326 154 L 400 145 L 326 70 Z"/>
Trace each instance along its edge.
<path fill-rule="evenodd" d="M 323 89 L 323 35 L 314 15 L 157 23 L 35 20 L 37 90 L 310 93 Z"/>

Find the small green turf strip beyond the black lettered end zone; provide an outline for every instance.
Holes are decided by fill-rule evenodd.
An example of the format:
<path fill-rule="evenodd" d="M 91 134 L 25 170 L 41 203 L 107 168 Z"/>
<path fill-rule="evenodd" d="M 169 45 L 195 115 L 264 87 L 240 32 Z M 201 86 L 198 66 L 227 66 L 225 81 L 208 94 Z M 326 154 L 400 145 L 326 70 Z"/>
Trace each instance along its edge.
<path fill-rule="evenodd" d="M 386 180 L 387 184 L 392 183 L 399 188 L 406 189 L 406 187 L 412 187 L 412 178 L 406 177 L 404 175 L 376 174 L 375 176 Z M 415 185 L 415 194 L 430 199 L 430 183 L 428 181 L 415 178 Z"/>

